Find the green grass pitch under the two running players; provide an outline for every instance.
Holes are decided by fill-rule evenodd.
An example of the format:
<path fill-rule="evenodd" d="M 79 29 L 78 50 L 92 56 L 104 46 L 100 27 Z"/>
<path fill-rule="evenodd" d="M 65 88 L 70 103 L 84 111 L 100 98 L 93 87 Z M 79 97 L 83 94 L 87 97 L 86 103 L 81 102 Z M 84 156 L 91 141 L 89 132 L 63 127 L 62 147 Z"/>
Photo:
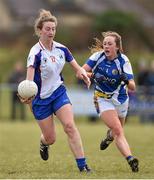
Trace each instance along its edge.
<path fill-rule="evenodd" d="M 57 120 L 56 120 L 57 121 Z M 56 123 L 57 141 L 50 148 L 50 158 L 39 157 L 40 130 L 36 122 L 0 123 L 0 179 L 152 179 L 154 178 L 152 125 L 128 122 L 125 133 L 133 154 L 140 160 L 140 171 L 132 173 L 114 143 L 99 150 L 106 127 L 101 123 L 77 122 L 91 174 L 80 174 L 67 144 L 67 137 L 59 122 Z"/>

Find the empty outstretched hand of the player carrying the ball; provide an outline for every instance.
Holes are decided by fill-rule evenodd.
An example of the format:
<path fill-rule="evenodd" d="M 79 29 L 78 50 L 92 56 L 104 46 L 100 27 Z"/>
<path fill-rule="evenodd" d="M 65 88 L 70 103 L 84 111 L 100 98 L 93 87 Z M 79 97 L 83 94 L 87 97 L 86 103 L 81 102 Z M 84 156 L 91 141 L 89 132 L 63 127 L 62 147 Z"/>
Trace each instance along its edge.
<path fill-rule="evenodd" d="M 76 76 L 79 78 L 79 79 L 82 79 L 85 84 L 87 85 L 87 88 L 89 89 L 90 85 L 91 85 L 91 81 L 90 81 L 90 78 L 88 77 L 87 75 L 87 72 L 85 71 L 85 69 L 83 68 L 80 68 L 77 73 L 76 73 Z"/>

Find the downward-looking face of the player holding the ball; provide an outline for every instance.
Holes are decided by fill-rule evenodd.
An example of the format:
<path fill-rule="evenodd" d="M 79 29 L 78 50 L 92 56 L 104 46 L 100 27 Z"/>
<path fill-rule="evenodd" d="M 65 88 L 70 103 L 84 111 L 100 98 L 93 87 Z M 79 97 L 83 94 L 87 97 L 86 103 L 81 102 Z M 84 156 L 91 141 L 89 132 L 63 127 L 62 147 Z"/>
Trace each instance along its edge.
<path fill-rule="evenodd" d="M 54 22 L 44 22 L 40 31 L 40 38 L 43 40 L 53 40 L 56 34 L 56 24 Z"/>

